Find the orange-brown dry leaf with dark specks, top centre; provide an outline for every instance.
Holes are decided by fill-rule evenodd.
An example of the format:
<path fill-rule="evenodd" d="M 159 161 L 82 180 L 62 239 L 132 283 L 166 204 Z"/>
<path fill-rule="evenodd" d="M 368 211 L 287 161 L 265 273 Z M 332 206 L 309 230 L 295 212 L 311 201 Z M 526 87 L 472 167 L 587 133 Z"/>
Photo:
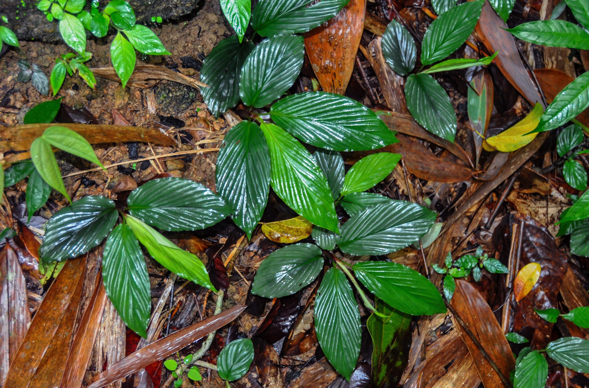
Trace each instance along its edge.
<path fill-rule="evenodd" d="M 366 0 L 352 0 L 333 19 L 305 34 L 305 48 L 323 91 L 343 95 L 354 68 Z"/>

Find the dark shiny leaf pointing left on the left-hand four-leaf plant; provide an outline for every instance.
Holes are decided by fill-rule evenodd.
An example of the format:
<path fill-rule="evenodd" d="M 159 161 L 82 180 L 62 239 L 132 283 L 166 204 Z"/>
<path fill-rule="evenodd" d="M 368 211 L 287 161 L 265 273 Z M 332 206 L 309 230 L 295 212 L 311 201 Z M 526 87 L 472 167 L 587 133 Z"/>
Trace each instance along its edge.
<path fill-rule="evenodd" d="M 112 200 L 98 195 L 79 199 L 49 219 L 39 253 L 45 262 L 87 253 L 108 236 L 117 218 Z"/>

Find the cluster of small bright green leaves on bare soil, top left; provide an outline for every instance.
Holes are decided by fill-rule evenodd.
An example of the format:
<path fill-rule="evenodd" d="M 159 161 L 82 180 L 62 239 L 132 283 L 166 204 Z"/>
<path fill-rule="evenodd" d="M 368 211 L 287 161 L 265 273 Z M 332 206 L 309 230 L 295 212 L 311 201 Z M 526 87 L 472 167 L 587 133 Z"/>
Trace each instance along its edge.
<path fill-rule="evenodd" d="M 88 86 L 94 88 L 96 85 L 92 71 L 84 64 L 92 57 L 86 52 L 86 31 L 102 38 L 111 27 L 117 30 L 111 42 L 111 61 L 123 87 L 135 68 L 135 50 L 146 55 L 170 54 L 153 31 L 135 24 L 135 12 L 128 2 L 112 0 L 102 12 L 98 10 L 97 0 L 91 1 L 90 12 L 84 10 L 85 5 L 86 0 L 40 0 L 37 4 L 49 21 L 59 21 L 59 32 L 64 42 L 77 52 L 77 55 L 70 53 L 55 59 L 57 63 L 51 72 L 54 95 L 61 88 L 65 73 L 71 76 L 77 71 Z"/>

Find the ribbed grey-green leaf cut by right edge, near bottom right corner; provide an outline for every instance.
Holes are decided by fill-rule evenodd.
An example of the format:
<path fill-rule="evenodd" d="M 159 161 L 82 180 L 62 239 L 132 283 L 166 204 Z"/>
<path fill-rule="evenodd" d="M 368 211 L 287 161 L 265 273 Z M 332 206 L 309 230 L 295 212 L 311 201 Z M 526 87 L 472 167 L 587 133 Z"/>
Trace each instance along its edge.
<path fill-rule="evenodd" d="M 589 373 L 589 340 L 563 337 L 549 343 L 546 353 L 568 369 Z"/>

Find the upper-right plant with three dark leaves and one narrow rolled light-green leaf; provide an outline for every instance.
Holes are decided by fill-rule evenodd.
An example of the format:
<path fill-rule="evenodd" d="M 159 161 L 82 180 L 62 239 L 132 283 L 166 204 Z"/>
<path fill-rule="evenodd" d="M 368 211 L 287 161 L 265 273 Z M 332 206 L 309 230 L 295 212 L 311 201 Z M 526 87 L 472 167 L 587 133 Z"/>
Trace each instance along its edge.
<path fill-rule="evenodd" d="M 423 36 L 422 65 L 441 61 L 464 44 L 477 25 L 484 0 L 469 1 L 458 6 L 454 6 L 456 1 L 454 4 L 445 2 L 448 9 L 440 9 L 439 3 L 434 2 L 434 9 L 438 8 L 436 11 L 440 15 Z M 386 63 L 399 75 L 408 75 L 415 68 L 415 41 L 407 29 L 395 20 L 386 27 L 382 36 L 382 52 Z M 481 59 L 448 59 L 409 75 L 405 84 L 405 98 L 413 118 L 429 132 L 454 142 L 458 125 L 452 102 L 444 88 L 430 74 L 488 65 L 496 55 Z"/>

